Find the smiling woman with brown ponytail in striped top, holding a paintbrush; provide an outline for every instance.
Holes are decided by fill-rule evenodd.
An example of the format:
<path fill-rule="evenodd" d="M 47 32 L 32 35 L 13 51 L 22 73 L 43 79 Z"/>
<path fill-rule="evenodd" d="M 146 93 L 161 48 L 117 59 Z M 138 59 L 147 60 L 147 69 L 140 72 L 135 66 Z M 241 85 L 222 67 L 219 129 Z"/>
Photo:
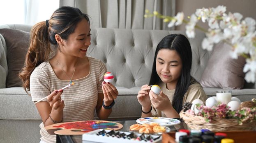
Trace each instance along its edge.
<path fill-rule="evenodd" d="M 73 7 L 60 7 L 49 20 L 32 27 L 20 77 L 32 101 L 48 96 L 35 104 L 43 121 L 39 125 L 42 143 L 56 142 L 56 136 L 44 126 L 93 120 L 95 109 L 100 119 L 106 119 L 112 111 L 118 91 L 103 81 L 104 63 L 86 56 L 90 30 L 88 16 Z M 52 58 L 50 44 L 58 45 Z M 75 84 L 65 91 L 57 90 L 72 82 Z"/>

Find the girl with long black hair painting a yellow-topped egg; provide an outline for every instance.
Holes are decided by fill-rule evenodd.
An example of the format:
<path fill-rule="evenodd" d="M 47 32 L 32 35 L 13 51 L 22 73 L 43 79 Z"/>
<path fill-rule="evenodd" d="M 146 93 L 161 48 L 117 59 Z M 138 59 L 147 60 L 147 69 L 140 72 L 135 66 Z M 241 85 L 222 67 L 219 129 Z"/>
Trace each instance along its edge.
<path fill-rule="evenodd" d="M 202 86 L 191 75 L 192 53 L 189 40 L 181 34 L 164 37 L 155 51 L 149 85 L 159 85 L 159 95 L 143 85 L 138 92 L 141 117 L 179 118 L 182 104 L 206 100 Z"/>

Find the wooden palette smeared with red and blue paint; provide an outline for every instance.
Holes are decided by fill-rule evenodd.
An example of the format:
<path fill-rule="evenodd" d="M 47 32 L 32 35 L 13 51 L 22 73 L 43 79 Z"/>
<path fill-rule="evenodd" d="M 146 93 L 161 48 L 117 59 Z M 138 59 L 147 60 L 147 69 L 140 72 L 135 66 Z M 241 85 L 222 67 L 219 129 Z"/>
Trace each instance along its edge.
<path fill-rule="evenodd" d="M 105 130 L 120 130 L 123 125 L 111 121 L 76 121 L 76 122 L 65 122 L 44 127 L 46 130 L 56 130 L 54 133 L 59 135 L 82 135 L 84 133 L 94 131 L 97 129 Z"/>

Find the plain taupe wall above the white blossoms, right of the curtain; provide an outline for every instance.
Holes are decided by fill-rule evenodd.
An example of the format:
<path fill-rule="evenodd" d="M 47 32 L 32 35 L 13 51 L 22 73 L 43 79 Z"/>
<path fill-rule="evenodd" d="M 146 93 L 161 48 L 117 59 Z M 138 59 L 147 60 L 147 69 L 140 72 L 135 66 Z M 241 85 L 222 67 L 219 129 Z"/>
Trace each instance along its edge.
<path fill-rule="evenodd" d="M 196 12 L 196 9 L 205 7 L 226 6 L 226 13 L 238 12 L 243 18 L 251 17 L 256 19 L 256 0 L 176 0 L 176 13 L 183 11 L 185 18 Z M 176 14 L 175 13 L 175 14 Z M 208 28 L 206 23 L 198 22 L 198 25 Z M 185 30 L 185 24 L 175 27 L 176 30 Z"/>

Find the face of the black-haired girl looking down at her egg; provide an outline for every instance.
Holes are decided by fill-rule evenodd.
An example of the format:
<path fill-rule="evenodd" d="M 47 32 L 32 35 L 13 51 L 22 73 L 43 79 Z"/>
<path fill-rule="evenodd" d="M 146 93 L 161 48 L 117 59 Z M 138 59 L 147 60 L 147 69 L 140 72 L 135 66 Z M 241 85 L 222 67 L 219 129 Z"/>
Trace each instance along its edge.
<path fill-rule="evenodd" d="M 160 49 L 157 53 L 156 70 L 168 89 L 174 89 L 182 70 L 182 61 L 175 50 Z"/>

